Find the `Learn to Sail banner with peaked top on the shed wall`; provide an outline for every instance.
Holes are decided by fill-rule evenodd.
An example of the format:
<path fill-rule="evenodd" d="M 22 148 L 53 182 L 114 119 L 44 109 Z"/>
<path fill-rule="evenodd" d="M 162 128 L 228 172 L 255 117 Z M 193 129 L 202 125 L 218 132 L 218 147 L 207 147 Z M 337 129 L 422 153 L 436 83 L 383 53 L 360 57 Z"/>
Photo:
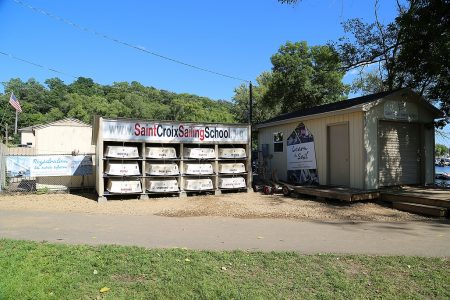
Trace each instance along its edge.
<path fill-rule="evenodd" d="M 319 184 L 314 136 L 303 123 L 287 139 L 287 178 L 294 184 Z"/>

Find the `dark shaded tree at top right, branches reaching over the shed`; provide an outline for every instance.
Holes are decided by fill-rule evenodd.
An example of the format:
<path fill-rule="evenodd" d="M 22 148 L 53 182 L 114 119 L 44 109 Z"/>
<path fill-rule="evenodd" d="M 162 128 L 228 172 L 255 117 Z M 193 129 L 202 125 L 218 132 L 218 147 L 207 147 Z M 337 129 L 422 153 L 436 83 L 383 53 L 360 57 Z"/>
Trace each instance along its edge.
<path fill-rule="evenodd" d="M 450 2 L 409 0 L 398 4 L 394 22 L 344 22 L 347 36 L 334 44 L 345 69 L 378 65 L 383 90 L 410 87 L 450 112 Z M 364 85 L 363 85 L 364 86 Z M 442 126 L 445 122 L 439 122 Z"/>

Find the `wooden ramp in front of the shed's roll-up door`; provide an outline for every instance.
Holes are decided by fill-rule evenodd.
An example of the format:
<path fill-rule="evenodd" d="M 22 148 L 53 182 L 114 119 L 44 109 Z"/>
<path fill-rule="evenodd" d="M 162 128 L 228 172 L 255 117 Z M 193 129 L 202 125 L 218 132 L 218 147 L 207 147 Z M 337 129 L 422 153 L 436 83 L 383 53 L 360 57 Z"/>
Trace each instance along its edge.
<path fill-rule="evenodd" d="M 431 187 L 396 187 L 380 191 L 381 200 L 394 208 L 433 217 L 448 216 L 450 190 Z"/>

